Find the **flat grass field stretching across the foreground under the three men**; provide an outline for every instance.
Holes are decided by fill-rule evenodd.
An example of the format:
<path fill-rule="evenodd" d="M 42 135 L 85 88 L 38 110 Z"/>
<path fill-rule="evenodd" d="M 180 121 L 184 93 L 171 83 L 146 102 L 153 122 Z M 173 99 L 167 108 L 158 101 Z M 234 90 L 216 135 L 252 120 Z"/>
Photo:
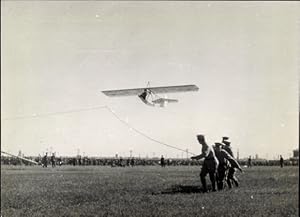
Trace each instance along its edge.
<path fill-rule="evenodd" d="M 298 216 L 299 167 L 252 167 L 201 193 L 200 167 L 1 166 L 6 216 Z M 209 183 L 209 181 L 208 181 Z"/>

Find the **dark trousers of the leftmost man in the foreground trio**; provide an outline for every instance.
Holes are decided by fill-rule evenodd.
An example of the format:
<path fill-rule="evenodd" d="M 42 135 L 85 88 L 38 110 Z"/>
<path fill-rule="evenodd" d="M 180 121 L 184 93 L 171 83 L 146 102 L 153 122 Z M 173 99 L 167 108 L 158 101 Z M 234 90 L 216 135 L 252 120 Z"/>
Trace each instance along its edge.
<path fill-rule="evenodd" d="M 203 187 L 203 191 L 207 192 L 205 176 L 209 174 L 209 178 L 212 185 L 212 190 L 216 191 L 216 163 L 213 160 L 204 160 L 201 172 L 200 179 Z"/>

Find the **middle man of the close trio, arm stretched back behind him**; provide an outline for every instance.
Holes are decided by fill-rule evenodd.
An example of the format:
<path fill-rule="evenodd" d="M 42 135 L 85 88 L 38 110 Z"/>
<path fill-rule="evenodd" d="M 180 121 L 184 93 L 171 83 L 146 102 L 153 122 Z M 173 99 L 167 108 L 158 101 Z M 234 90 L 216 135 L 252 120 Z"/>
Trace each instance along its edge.
<path fill-rule="evenodd" d="M 221 143 L 215 143 L 215 154 L 219 161 L 217 186 L 218 190 L 222 190 L 227 169 L 232 168 L 234 170 L 234 168 L 238 168 L 240 171 L 242 171 L 242 169 L 239 163 L 226 150 L 222 149 Z"/>

